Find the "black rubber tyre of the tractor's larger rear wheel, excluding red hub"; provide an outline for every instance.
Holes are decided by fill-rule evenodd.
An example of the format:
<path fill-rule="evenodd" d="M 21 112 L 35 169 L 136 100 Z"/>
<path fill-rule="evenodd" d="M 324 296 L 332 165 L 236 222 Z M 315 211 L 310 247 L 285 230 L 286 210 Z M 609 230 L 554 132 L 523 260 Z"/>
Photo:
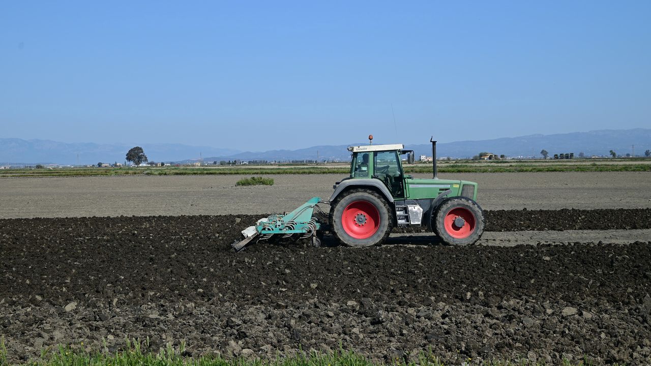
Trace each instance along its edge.
<path fill-rule="evenodd" d="M 355 201 L 365 201 L 372 204 L 378 210 L 380 217 L 378 231 L 376 231 L 375 234 L 369 238 L 353 238 L 344 229 L 344 225 L 342 223 L 344 209 L 346 209 L 349 204 Z M 391 229 L 393 229 L 393 216 L 391 216 L 391 209 L 389 208 L 389 204 L 381 195 L 371 190 L 354 188 L 352 190 L 341 193 L 339 197 L 335 199 L 335 202 L 331 204 L 330 223 L 335 236 L 337 236 L 342 244 L 351 247 L 369 247 L 380 244 L 387 239 L 389 233 L 391 232 Z"/>

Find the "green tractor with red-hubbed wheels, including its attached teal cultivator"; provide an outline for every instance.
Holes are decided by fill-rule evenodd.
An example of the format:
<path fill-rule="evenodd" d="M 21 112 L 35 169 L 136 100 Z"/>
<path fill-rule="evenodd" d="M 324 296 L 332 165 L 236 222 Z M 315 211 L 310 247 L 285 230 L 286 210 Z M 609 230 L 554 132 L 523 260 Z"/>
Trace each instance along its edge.
<path fill-rule="evenodd" d="M 235 242 L 236 251 L 251 240 L 272 236 L 312 238 L 320 245 L 324 222 L 347 246 L 367 247 L 386 240 L 393 227 L 427 227 L 441 241 L 452 245 L 477 242 L 484 232 L 484 213 L 475 201 L 477 183 L 437 178 L 436 141 L 432 142 L 434 178 L 413 178 L 402 168 L 401 156 L 414 162 L 412 150 L 402 144 L 348 147 L 352 153 L 350 176 L 335 183 L 328 201 L 313 197 L 287 214 L 271 215 L 242 231 L 244 240 Z M 326 214 L 319 203 L 330 204 Z"/>

